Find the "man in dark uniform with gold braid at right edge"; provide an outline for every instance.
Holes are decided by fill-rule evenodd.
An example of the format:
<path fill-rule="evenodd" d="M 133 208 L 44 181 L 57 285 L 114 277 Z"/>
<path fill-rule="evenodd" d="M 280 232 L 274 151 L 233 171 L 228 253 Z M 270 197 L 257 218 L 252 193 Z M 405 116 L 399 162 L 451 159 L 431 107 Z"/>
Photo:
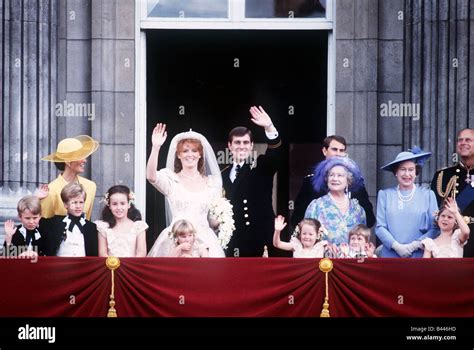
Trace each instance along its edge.
<path fill-rule="evenodd" d="M 471 230 L 471 239 L 464 246 L 464 257 L 474 258 L 474 129 L 458 133 L 456 152 L 461 158 L 451 167 L 438 170 L 431 181 L 438 205 L 448 197 L 456 199 L 459 210 Z"/>

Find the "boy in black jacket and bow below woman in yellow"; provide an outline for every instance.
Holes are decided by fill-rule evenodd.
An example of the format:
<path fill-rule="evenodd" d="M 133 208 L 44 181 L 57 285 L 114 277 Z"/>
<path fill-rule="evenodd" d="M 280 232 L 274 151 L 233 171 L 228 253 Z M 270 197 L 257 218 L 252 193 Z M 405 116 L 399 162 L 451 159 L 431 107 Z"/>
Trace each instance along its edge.
<path fill-rule="evenodd" d="M 84 187 L 78 183 L 67 184 L 61 190 L 61 199 L 67 215 L 55 215 L 40 221 L 40 230 L 47 233 L 46 255 L 98 256 L 97 226 L 84 215 Z"/>

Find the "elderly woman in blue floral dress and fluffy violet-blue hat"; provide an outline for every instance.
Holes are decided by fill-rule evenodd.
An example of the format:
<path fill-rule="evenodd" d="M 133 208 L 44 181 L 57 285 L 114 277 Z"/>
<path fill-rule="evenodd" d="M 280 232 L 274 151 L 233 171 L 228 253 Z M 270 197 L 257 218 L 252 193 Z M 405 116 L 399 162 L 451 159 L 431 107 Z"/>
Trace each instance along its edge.
<path fill-rule="evenodd" d="M 316 166 L 313 187 L 327 195 L 313 200 L 306 209 L 305 218 L 318 220 L 324 227 L 331 245 L 347 243 L 349 231 L 358 224 L 366 224 L 364 209 L 350 191 L 357 191 L 364 183 L 357 164 L 346 157 L 331 157 Z M 336 249 L 337 251 L 337 249 Z"/>

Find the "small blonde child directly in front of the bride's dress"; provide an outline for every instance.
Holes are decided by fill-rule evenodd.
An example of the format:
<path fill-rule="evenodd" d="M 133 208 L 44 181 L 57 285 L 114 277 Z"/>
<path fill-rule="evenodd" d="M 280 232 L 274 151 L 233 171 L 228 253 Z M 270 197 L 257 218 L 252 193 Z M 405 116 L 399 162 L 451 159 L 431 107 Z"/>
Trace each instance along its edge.
<path fill-rule="evenodd" d="M 171 257 L 204 258 L 209 256 L 209 248 L 196 242 L 196 229 L 187 220 L 178 220 L 171 228 L 175 247 L 171 250 Z"/>

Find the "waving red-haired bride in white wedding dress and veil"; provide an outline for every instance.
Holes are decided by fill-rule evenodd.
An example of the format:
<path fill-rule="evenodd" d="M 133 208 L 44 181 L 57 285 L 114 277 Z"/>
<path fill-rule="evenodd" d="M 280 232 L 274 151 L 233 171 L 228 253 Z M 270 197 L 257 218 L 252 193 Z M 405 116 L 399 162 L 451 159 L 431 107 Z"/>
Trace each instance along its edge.
<path fill-rule="evenodd" d="M 157 171 L 158 155 L 166 137 L 166 125 L 156 124 L 146 176 L 166 198 L 169 226 L 160 233 L 148 256 L 170 256 L 175 246 L 171 226 L 176 220 L 186 219 L 196 228 L 197 242 L 208 247 L 209 257 L 225 257 L 207 219 L 211 203 L 222 196 L 222 178 L 214 151 L 203 135 L 180 133 L 171 140 L 166 168 Z"/>

